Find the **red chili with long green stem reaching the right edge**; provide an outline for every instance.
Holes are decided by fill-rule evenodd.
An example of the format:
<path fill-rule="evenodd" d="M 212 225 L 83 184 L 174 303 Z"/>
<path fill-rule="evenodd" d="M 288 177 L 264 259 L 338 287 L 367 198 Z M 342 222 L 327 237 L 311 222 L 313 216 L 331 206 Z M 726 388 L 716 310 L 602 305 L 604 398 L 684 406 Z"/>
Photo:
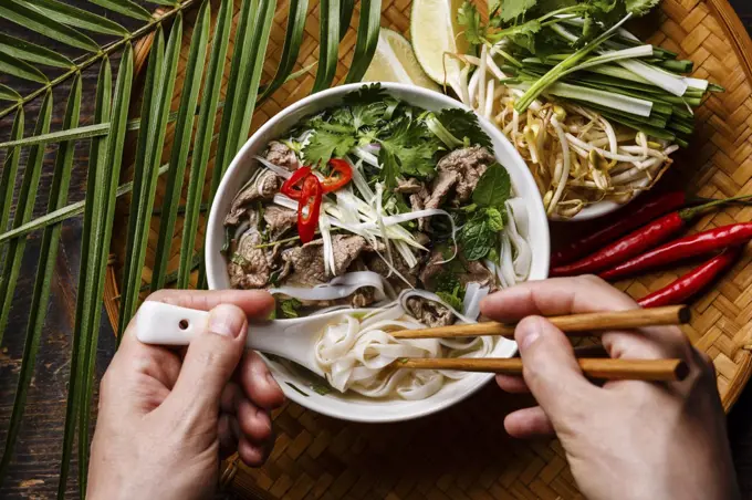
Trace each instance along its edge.
<path fill-rule="evenodd" d="M 749 197 L 750 195 L 713 200 L 699 207 L 685 208 L 668 213 L 577 262 L 553 268 L 550 274 L 551 277 L 568 277 L 603 271 L 662 243 L 685 229 L 694 217 L 707 212 L 709 209 Z"/>

